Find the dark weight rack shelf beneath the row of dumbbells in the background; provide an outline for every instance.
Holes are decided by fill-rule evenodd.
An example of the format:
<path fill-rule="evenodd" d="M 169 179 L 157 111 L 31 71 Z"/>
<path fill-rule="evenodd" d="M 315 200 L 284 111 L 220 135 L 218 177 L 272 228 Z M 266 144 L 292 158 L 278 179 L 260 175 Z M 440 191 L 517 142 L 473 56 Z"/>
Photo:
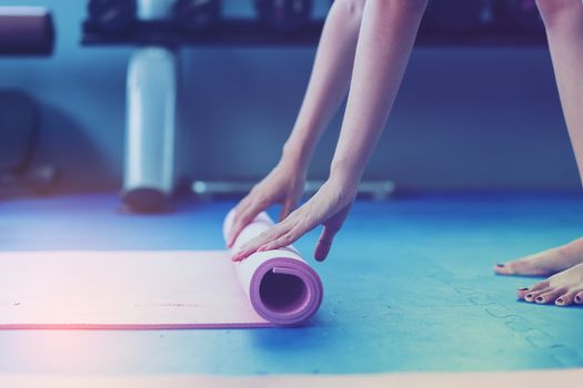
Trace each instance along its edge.
<path fill-rule="evenodd" d="M 209 31 L 184 32 L 167 21 L 139 21 L 123 33 L 103 33 L 89 20 L 82 24 L 83 45 L 315 45 L 323 21 L 311 21 L 294 32 L 277 32 L 251 19 L 227 19 Z M 544 33 L 484 28 L 471 33 L 420 29 L 418 45 L 541 45 Z"/>

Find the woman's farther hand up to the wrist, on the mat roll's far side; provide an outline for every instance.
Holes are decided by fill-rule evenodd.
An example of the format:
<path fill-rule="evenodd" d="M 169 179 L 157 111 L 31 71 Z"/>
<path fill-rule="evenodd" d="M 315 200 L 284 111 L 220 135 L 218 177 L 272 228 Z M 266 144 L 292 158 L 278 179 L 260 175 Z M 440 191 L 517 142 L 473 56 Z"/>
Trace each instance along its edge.
<path fill-rule="evenodd" d="M 232 247 L 239 233 L 259 213 L 273 204 L 282 205 L 280 221 L 285 219 L 302 197 L 305 184 L 305 170 L 302 163 L 282 159 L 271 173 L 258 183 L 237 205 L 233 227 L 227 245 Z"/>

